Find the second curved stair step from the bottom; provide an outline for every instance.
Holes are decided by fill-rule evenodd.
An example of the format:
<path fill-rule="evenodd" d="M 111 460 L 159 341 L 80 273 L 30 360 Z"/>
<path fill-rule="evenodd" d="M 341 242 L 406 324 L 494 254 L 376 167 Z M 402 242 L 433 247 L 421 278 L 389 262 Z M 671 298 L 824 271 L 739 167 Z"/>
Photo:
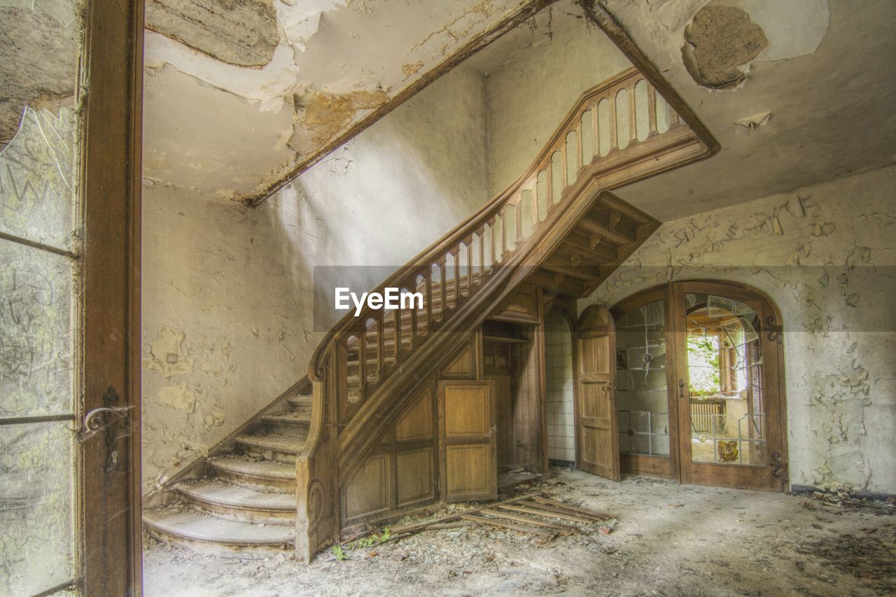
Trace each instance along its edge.
<path fill-rule="evenodd" d="M 296 497 L 202 479 L 177 485 L 177 492 L 200 509 L 244 523 L 291 524 L 296 519 Z"/>

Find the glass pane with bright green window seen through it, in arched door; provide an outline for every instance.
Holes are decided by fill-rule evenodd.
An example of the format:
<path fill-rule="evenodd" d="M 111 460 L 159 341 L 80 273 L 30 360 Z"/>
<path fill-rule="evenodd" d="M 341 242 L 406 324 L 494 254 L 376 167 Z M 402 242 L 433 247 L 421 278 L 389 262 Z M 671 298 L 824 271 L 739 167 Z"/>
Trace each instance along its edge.
<path fill-rule="evenodd" d="M 765 460 L 759 316 L 749 305 L 685 295 L 691 459 L 756 464 Z"/>

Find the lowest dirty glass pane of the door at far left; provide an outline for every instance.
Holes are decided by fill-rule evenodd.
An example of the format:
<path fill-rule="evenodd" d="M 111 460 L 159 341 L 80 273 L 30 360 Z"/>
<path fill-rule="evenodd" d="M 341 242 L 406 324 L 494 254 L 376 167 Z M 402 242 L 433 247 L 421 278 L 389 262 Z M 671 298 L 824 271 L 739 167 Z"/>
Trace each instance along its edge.
<path fill-rule="evenodd" d="M 69 425 L 0 427 L 0 594 L 33 595 L 73 578 Z"/>

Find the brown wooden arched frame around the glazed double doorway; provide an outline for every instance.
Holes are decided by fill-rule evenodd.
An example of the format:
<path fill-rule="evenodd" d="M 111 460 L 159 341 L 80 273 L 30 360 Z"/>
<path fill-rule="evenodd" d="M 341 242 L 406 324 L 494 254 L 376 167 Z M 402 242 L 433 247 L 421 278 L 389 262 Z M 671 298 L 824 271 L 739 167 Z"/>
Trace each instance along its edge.
<path fill-rule="evenodd" d="M 781 475 L 780 478 L 775 478 L 775 481 L 770 481 L 765 488 L 747 487 L 745 489 L 784 491 L 788 488 L 789 478 L 787 468 L 787 394 L 784 382 L 784 351 L 781 343 L 782 334 L 780 332 L 783 319 L 780 314 L 780 309 L 766 292 L 737 281 L 711 279 L 671 281 L 667 284 L 652 286 L 636 292 L 625 299 L 617 301 L 616 304 L 611 307 L 610 313 L 613 315 L 614 320 L 616 320 L 634 308 L 642 307 L 643 305 L 656 300 L 665 300 L 669 457 L 639 456 L 636 458 L 624 458 L 623 454 L 620 454 L 622 471 L 630 474 L 642 474 L 675 479 L 679 483 L 684 484 L 737 487 L 735 484 L 726 483 L 728 480 L 724 478 L 721 479 L 722 483 L 719 483 L 719 480 L 708 478 L 705 474 L 701 473 L 695 475 L 693 472 L 685 470 L 689 469 L 689 465 L 691 464 L 689 460 L 685 463 L 685 455 L 689 456 L 690 452 L 688 450 L 687 454 L 685 454 L 685 451 L 682 449 L 682 444 L 685 442 L 685 437 L 687 437 L 688 440 L 690 439 L 690 433 L 682 433 L 681 429 L 689 429 L 690 427 L 689 421 L 685 421 L 688 409 L 680 407 L 681 401 L 689 400 L 689 398 L 687 395 L 685 395 L 684 399 L 677 397 L 678 366 L 682 359 L 686 362 L 685 356 L 679 354 L 680 350 L 677 349 L 682 345 L 686 333 L 686 330 L 679 329 L 685 321 L 686 292 L 705 292 L 743 300 L 748 303 L 759 304 L 762 306 L 765 313 L 773 318 L 771 327 L 767 327 L 769 324 L 763 321 L 763 327 L 766 329 L 760 330 L 760 333 L 763 334 L 763 351 L 768 349 L 771 355 L 766 356 L 771 356 L 771 360 L 773 361 L 762 368 L 762 385 L 766 391 L 771 390 L 777 396 L 776 406 L 778 415 L 777 420 L 775 420 L 775 429 L 773 433 L 777 436 L 776 441 L 778 446 L 780 446 L 779 457 Z M 773 340 L 770 340 L 770 334 L 773 335 Z M 771 421 L 771 417 L 769 418 L 769 421 Z M 767 423 L 767 425 L 769 425 L 769 423 Z M 769 458 L 771 459 L 771 449 Z M 706 471 L 719 470 L 723 477 L 730 475 L 730 472 L 728 472 L 727 469 L 731 469 L 732 467 L 728 464 L 706 464 L 711 467 L 710 469 L 705 469 Z"/>

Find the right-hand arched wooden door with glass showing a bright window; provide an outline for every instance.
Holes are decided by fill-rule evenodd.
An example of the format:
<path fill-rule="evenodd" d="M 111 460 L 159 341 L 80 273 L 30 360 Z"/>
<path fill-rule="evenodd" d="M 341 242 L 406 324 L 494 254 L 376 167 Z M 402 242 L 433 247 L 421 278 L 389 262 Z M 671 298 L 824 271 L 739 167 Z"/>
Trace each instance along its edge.
<path fill-rule="evenodd" d="M 683 483 L 782 491 L 787 480 L 780 317 L 754 290 L 672 284 Z"/>

